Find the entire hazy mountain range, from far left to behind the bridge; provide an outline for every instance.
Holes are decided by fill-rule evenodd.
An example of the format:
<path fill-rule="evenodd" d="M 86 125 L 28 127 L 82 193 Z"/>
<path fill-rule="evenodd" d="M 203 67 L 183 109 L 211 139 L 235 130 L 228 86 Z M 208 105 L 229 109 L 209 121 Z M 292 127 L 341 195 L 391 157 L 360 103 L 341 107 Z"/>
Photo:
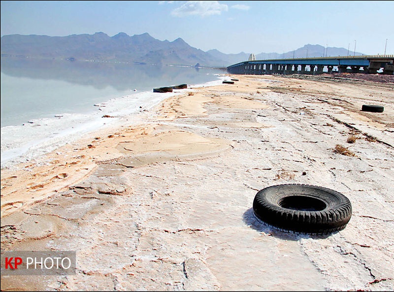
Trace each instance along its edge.
<path fill-rule="evenodd" d="M 283 54 L 259 53 L 256 59 L 305 58 L 322 56 L 362 55 L 344 48 L 307 44 Z M 9 34 L 1 37 L 1 56 L 34 58 L 64 58 L 68 60 L 118 61 L 160 65 L 199 64 L 202 67 L 227 67 L 249 58 L 250 53 L 224 54 L 216 49 L 202 51 L 187 44 L 182 38 L 170 42 L 158 40 L 149 33 L 129 36 L 120 32 L 108 36 L 72 34 L 68 36 Z"/>

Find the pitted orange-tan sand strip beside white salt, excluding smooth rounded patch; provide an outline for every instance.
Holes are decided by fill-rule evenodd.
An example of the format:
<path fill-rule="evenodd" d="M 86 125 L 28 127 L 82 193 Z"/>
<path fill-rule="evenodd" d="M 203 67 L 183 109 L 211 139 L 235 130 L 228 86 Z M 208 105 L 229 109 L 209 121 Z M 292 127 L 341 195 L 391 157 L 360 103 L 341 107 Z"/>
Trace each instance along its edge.
<path fill-rule="evenodd" d="M 118 143 L 150 131 L 153 131 L 150 127 L 126 127 L 121 132 L 106 135 L 112 138 L 96 139 L 94 136 L 95 147 L 91 148 L 86 147 L 92 143 L 92 138 L 87 137 L 78 145 L 63 146 L 47 154 L 40 164 L 25 163 L 17 171 L 2 170 L 1 176 L 6 179 L 1 179 L 1 216 L 18 209 L 10 207 L 17 202 L 23 202 L 23 209 L 26 209 L 77 183 L 95 170 L 97 163 L 122 156 L 116 149 Z"/>

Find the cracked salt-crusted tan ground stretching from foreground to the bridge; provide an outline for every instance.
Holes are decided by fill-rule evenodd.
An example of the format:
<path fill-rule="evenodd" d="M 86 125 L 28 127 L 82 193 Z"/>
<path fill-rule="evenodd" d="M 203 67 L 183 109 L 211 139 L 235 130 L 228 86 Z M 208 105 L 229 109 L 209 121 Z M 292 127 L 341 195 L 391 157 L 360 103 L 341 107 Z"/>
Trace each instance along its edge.
<path fill-rule="evenodd" d="M 51 179 L 24 186 L 40 199 L 2 203 L 1 249 L 76 251 L 76 275 L 1 276 L 1 289 L 393 290 L 393 86 L 234 77 L 59 150 L 68 166 L 48 156 Z M 384 113 L 360 111 L 370 103 Z M 2 171 L 2 200 L 27 172 Z M 282 183 L 343 193 L 349 224 L 326 236 L 265 226 L 254 196 Z"/>

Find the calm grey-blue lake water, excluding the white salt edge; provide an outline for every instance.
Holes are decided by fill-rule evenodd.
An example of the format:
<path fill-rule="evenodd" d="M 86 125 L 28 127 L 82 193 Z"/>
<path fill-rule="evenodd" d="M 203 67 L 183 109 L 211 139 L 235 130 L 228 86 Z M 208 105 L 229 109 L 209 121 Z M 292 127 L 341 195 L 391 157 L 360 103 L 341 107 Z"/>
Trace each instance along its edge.
<path fill-rule="evenodd" d="M 125 63 L 1 58 L 1 127 L 64 113 L 154 87 L 201 84 L 222 70 Z M 136 91 L 134 91 L 136 89 Z"/>

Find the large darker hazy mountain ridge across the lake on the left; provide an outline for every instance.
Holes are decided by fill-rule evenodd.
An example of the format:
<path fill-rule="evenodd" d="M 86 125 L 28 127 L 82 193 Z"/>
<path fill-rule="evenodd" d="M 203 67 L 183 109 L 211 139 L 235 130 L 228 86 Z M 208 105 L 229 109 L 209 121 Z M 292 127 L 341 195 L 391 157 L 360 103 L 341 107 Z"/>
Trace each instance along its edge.
<path fill-rule="evenodd" d="M 221 66 L 223 60 L 189 46 L 183 39 L 160 41 L 149 33 L 112 37 L 103 32 L 68 36 L 20 35 L 1 37 L 1 54 L 76 60 L 148 62 L 153 64 Z"/>

